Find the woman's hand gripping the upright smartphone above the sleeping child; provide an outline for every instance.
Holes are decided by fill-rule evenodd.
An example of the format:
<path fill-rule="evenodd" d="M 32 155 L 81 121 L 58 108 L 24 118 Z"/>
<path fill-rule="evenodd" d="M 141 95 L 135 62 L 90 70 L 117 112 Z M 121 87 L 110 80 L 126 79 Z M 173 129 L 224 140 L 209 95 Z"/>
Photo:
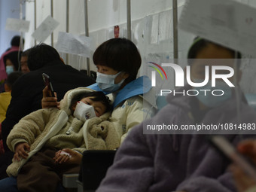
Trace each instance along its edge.
<path fill-rule="evenodd" d="M 57 102 L 57 94 L 54 92 L 55 97 L 49 96 L 48 87 L 44 87 L 43 99 L 41 99 L 42 108 L 59 108 L 59 102 Z"/>

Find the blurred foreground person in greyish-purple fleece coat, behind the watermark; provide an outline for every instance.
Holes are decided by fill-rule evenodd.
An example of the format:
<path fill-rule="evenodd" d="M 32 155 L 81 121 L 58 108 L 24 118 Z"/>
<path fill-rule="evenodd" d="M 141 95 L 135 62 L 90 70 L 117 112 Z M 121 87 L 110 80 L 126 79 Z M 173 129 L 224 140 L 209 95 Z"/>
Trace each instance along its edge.
<path fill-rule="evenodd" d="M 203 82 L 206 66 L 211 68 L 214 62 L 197 62 L 199 59 L 234 60 L 236 53 L 227 47 L 197 38 L 190 47 L 188 58 L 194 59 L 190 63 L 191 79 Z M 228 65 L 234 68 L 234 62 Z M 240 72 L 237 71 L 237 74 L 239 76 Z M 235 81 L 234 78 L 230 78 L 230 81 Z M 182 88 L 185 92 L 191 88 L 196 90 L 196 87 L 188 84 Z M 214 88 L 221 90 L 223 87 L 216 84 Z M 241 93 L 239 87 L 236 89 Z M 235 191 L 232 175 L 227 171 L 229 163 L 207 142 L 208 135 L 173 132 L 144 134 L 143 125 L 174 124 L 181 127 L 182 124 L 255 123 L 256 113 L 242 100 L 242 94 L 238 94 L 237 98 L 241 100 L 238 116 L 236 96 L 230 87 L 224 97 L 213 100 L 208 96 L 166 96 L 169 105 L 131 130 L 96 191 Z M 224 136 L 233 145 L 241 140 L 235 134 Z"/>

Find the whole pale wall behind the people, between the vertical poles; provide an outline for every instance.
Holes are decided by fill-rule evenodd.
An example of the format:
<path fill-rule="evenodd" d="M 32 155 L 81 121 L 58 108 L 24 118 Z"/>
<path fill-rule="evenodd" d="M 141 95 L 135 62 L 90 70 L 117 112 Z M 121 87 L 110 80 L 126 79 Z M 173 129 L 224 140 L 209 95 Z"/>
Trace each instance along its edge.
<path fill-rule="evenodd" d="M 178 15 L 187 0 L 178 0 Z M 254 0 L 237 0 L 256 6 Z M 69 1 L 69 32 L 84 35 L 84 0 Z M 172 0 L 131 0 L 133 42 L 142 54 L 143 62 L 154 59 L 166 62 L 173 56 L 172 50 Z M 34 3 L 26 3 L 26 20 L 31 26 L 26 33 L 26 47 L 34 45 L 31 34 L 34 31 Z M 50 0 L 37 0 L 37 26 L 50 15 Z M 103 41 L 114 37 L 114 26 L 120 26 L 120 36 L 126 37 L 126 0 L 91 0 L 88 1 L 90 37 L 93 38 L 91 56 Z M 60 24 L 53 33 L 56 43 L 59 31 L 66 31 L 66 1 L 53 1 L 53 18 Z M 179 57 L 185 58 L 187 49 L 194 35 L 178 31 Z M 29 40 L 30 39 L 30 40 Z M 50 44 L 50 37 L 45 43 Z M 65 59 L 65 54 L 61 54 Z M 90 58 L 91 59 L 91 58 Z M 86 59 L 69 55 L 69 65 L 76 69 L 86 69 Z M 143 64 L 142 62 L 142 64 Z M 90 61 L 91 69 L 96 70 Z"/>

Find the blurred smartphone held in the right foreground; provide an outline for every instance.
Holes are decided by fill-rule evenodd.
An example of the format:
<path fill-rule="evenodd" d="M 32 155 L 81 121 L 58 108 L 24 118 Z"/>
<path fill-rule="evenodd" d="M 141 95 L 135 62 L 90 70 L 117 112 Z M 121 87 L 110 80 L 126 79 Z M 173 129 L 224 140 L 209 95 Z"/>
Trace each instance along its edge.
<path fill-rule="evenodd" d="M 226 139 L 224 136 L 211 136 L 209 137 L 209 142 L 214 148 L 216 148 L 224 157 L 236 166 L 242 168 L 244 172 L 254 178 L 256 181 L 256 166 L 247 157 L 244 157 L 236 148 Z"/>

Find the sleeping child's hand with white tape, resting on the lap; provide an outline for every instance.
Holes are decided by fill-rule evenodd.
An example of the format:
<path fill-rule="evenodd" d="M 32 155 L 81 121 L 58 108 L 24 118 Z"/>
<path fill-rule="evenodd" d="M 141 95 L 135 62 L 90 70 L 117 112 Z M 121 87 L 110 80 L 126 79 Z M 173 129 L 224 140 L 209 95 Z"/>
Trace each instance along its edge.
<path fill-rule="evenodd" d="M 55 157 L 53 157 L 53 160 L 55 160 L 56 163 L 75 163 L 80 164 L 82 161 L 83 155 L 73 151 L 70 148 L 63 148 L 62 150 L 59 150 L 56 152 Z"/>

